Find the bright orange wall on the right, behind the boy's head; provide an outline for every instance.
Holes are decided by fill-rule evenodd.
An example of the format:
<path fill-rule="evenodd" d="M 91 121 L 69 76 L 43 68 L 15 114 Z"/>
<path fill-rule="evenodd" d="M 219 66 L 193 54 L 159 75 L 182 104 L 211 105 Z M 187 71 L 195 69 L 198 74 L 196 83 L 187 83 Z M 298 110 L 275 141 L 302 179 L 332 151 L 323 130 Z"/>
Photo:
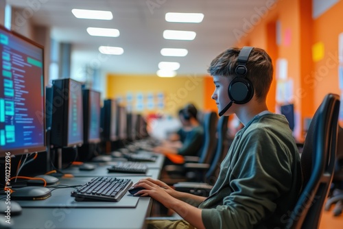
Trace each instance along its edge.
<path fill-rule="evenodd" d="M 292 100 L 296 110 L 298 140 L 303 139 L 303 120 L 311 118 L 327 93 L 340 94 L 338 82 L 338 36 L 343 32 L 339 19 L 343 13 L 343 1 L 339 1 L 318 19 L 312 19 L 312 0 L 279 0 L 255 25 L 237 46 L 251 45 L 264 48 L 274 62 L 285 58 L 288 62 L 288 78 L 294 82 Z M 276 21 L 281 23 L 281 44 L 275 43 Z M 321 60 L 314 61 L 312 47 L 324 46 Z M 274 68 L 276 69 L 276 68 Z M 268 95 L 268 107 L 276 106 L 276 81 Z"/>

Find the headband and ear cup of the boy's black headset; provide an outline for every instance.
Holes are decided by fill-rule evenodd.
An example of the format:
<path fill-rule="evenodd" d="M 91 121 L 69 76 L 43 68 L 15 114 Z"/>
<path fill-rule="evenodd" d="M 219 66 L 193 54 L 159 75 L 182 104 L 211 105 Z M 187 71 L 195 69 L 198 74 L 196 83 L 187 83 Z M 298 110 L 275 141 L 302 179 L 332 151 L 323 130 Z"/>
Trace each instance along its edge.
<path fill-rule="evenodd" d="M 254 47 L 243 47 L 239 52 L 237 59 L 237 67 L 235 69 L 236 77 L 228 85 L 228 97 L 235 104 L 246 104 L 254 95 L 254 87 L 250 80 L 245 76 L 248 73 L 246 62 L 250 52 Z"/>

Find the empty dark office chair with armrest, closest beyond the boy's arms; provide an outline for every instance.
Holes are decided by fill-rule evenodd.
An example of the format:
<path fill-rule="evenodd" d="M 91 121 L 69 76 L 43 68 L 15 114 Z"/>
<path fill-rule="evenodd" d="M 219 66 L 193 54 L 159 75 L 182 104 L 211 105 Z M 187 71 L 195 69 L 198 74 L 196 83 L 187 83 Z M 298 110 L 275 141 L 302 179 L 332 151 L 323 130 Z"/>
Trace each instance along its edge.
<path fill-rule="evenodd" d="M 220 117 L 217 124 L 217 147 L 209 169 L 204 174 L 204 182 L 178 182 L 174 184 L 176 191 L 183 191 L 195 195 L 208 196 L 213 184 L 217 180 L 217 171 L 219 171 L 220 163 L 228 152 L 228 139 L 226 132 L 228 131 L 228 117 Z M 190 169 L 196 168 L 197 164 L 189 164 Z"/>

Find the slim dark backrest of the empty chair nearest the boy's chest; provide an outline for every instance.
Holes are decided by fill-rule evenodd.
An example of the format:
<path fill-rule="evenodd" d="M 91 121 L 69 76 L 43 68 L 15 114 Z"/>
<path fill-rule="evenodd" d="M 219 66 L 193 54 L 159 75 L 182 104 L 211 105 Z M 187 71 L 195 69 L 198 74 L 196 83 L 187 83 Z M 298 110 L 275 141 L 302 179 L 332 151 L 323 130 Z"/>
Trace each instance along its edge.
<path fill-rule="evenodd" d="M 222 155 L 225 153 L 225 150 L 227 150 L 227 147 L 225 147 L 227 131 L 228 116 L 222 116 L 217 123 L 217 145 L 215 147 L 215 152 L 211 158 L 211 166 L 205 174 L 206 183 L 211 185 L 215 184 L 215 180 L 217 180 L 217 174 L 215 174 L 215 172 L 217 171 L 218 165 L 220 165 L 220 159 L 222 158 Z"/>

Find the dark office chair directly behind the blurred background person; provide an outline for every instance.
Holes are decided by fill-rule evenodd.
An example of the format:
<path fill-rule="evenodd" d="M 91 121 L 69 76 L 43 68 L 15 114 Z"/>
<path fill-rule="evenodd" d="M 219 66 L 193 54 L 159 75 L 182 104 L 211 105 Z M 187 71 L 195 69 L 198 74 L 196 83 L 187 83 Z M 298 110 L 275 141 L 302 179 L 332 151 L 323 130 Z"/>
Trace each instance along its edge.
<path fill-rule="evenodd" d="M 194 169 L 209 169 L 209 164 L 213 158 L 213 153 L 215 152 L 215 147 L 217 145 L 216 126 L 217 126 L 217 113 L 215 112 L 205 112 L 203 117 L 204 126 L 204 144 L 200 149 L 198 156 L 184 156 L 185 162 L 180 165 L 166 165 L 163 169 L 167 172 L 168 177 L 162 177 L 161 180 L 166 184 L 175 184 L 176 182 L 187 181 L 189 179 L 198 178 L 193 177 L 194 174 L 198 173 L 187 173 L 191 170 L 190 167 Z M 191 163 L 191 164 L 190 164 Z M 198 164 L 196 167 L 194 164 Z"/>

